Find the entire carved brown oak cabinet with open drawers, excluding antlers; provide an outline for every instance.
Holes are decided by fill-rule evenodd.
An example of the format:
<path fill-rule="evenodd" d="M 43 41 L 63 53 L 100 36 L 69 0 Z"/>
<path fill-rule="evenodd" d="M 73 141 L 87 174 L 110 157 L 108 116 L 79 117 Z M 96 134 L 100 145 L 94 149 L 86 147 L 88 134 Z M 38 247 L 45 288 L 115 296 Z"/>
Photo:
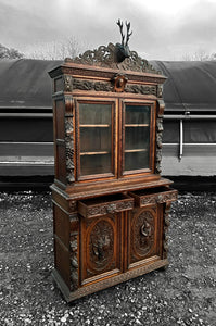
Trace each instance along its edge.
<path fill-rule="evenodd" d="M 168 264 L 177 191 L 160 175 L 165 77 L 136 52 L 122 63 L 114 52 L 110 43 L 49 73 L 53 277 L 67 301 Z"/>

